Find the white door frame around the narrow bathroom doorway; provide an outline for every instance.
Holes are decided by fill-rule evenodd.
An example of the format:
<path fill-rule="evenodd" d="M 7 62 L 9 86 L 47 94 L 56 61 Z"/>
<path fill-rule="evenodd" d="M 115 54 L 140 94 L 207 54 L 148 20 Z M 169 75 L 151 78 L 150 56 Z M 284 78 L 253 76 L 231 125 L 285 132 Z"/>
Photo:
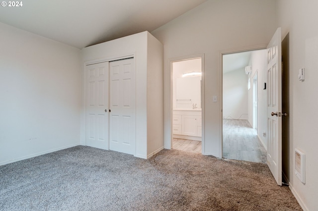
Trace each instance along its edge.
<path fill-rule="evenodd" d="M 195 54 L 195 55 L 189 55 L 189 56 L 180 56 L 180 57 L 175 57 L 175 58 L 170 58 L 168 60 L 169 64 L 169 71 L 170 71 L 170 106 L 169 106 L 169 111 L 170 111 L 170 146 L 167 146 L 166 149 L 172 149 L 172 130 L 173 130 L 173 122 L 172 122 L 172 115 L 173 115 L 173 78 L 172 78 L 172 63 L 175 61 L 182 61 L 182 60 L 189 60 L 193 58 L 201 58 L 201 116 L 202 116 L 202 137 L 201 137 L 201 144 L 202 144 L 202 155 L 205 155 L 205 136 L 204 136 L 204 111 L 205 111 L 205 105 L 204 105 L 204 53 L 201 54 Z"/>

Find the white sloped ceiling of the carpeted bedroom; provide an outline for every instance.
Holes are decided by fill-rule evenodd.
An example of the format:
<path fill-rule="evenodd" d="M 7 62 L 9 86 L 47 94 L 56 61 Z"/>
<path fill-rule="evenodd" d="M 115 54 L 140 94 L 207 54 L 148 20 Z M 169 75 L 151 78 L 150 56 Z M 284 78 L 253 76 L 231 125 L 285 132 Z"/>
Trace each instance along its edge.
<path fill-rule="evenodd" d="M 0 22 L 82 49 L 159 28 L 206 0 L 25 0 Z"/>

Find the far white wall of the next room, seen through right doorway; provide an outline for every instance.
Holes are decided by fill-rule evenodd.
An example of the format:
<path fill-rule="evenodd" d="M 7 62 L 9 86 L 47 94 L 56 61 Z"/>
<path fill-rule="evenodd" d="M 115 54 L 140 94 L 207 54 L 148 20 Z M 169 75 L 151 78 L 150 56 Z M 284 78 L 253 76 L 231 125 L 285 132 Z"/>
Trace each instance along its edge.
<path fill-rule="evenodd" d="M 245 68 L 223 74 L 223 118 L 247 119 Z"/>

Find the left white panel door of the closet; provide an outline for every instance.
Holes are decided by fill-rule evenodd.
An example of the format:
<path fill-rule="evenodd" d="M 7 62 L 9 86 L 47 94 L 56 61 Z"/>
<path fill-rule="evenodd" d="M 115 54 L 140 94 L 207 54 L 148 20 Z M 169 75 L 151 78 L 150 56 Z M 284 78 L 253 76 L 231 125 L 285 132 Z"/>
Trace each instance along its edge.
<path fill-rule="evenodd" d="M 108 150 L 109 62 L 86 66 L 86 145 Z"/>

